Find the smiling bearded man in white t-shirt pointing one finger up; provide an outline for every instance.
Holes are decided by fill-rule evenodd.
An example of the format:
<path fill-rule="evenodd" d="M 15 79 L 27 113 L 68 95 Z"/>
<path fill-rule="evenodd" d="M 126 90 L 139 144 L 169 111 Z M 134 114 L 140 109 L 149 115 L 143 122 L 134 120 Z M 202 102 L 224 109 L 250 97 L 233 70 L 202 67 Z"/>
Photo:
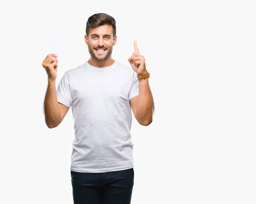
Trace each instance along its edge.
<path fill-rule="evenodd" d="M 145 58 L 134 41 L 135 52 L 128 58 L 131 67 L 113 60 L 116 38 L 113 17 L 104 13 L 89 17 L 84 39 L 91 57 L 66 71 L 57 90 L 58 56 L 49 54 L 42 63 L 48 74 L 47 126 L 57 127 L 70 107 L 73 111 L 74 204 L 130 204 L 134 185 L 131 109 L 139 124 L 152 122 L 154 101 Z"/>

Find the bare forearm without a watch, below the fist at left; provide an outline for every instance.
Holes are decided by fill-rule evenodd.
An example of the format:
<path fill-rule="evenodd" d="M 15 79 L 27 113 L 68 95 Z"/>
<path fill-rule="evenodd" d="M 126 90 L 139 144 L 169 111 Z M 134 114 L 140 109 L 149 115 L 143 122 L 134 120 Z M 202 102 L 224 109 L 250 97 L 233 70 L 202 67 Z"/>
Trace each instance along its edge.
<path fill-rule="evenodd" d="M 47 91 L 44 98 L 44 116 L 45 122 L 49 128 L 58 126 L 61 117 L 55 83 L 55 80 L 48 80 Z"/>

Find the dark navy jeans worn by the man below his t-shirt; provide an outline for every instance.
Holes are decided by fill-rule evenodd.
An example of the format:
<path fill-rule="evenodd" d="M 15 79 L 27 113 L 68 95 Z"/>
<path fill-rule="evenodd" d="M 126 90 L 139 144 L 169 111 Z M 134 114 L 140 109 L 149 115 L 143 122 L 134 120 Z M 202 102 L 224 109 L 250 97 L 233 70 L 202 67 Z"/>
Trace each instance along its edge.
<path fill-rule="evenodd" d="M 74 204 L 130 204 L 134 169 L 81 173 L 71 171 Z"/>

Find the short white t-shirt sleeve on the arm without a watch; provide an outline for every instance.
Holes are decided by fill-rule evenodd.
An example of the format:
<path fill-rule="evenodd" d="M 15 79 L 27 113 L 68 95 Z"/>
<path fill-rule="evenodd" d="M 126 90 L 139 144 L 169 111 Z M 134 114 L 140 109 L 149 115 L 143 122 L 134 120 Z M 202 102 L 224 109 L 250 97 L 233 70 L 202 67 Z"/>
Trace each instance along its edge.
<path fill-rule="evenodd" d="M 72 106 L 72 97 L 70 92 L 70 80 L 69 75 L 67 72 L 64 73 L 63 77 L 61 78 L 58 87 L 56 89 L 57 100 L 59 103 L 70 108 Z"/>

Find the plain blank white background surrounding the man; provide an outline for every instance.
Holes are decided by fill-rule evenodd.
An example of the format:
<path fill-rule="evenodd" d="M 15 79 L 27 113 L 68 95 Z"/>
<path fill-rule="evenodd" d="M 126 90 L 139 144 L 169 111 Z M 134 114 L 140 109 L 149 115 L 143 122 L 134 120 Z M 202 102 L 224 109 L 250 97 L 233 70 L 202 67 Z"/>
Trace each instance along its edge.
<path fill-rule="evenodd" d="M 116 19 L 113 59 L 129 65 L 137 40 L 151 73 L 153 123 L 133 120 L 131 129 L 131 203 L 255 204 L 253 1 L 70 2 L 0 5 L 0 203 L 73 203 L 73 116 L 70 109 L 57 128 L 47 128 L 42 62 L 51 37 L 78 42 L 59 56 L 57 83 L 88 60 L 86 22 L 104 12 Z"/>

